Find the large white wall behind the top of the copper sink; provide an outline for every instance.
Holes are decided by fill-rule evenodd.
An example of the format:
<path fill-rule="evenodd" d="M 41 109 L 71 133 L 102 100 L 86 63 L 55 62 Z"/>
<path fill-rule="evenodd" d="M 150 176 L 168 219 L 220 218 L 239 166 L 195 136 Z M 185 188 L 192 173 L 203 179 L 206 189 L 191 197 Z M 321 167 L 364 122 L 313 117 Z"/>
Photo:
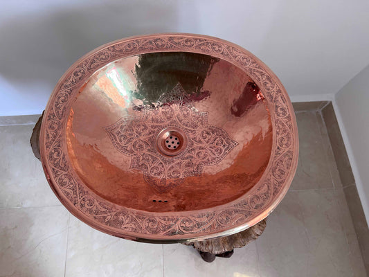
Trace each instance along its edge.
<path fill-rule="evenodd" d="M 41 113 L 93 48 L 163 32 L 228 39 L 271 67 L 292 100 L 326 99 L 368 64 L 369 1 L 1 1 L 0 116 Z"/>

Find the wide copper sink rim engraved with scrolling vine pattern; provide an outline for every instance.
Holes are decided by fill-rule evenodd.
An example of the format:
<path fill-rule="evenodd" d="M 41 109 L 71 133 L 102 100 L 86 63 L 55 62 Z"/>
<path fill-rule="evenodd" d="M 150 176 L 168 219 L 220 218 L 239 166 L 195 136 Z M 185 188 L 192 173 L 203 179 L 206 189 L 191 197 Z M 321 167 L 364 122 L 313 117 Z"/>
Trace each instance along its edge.
<path fill-rule="evenodd" d="M 120 51 L 119 47 L 123 46 L 126 47 L 125 51 Z M 209 46 L 211 47 L 209 48 Z M 105 199 L 87 190 L 82 181 L 78 182 L 78 176 L 69 166 L 71 162 L 65 155 L 66 143 L 64 143 L 68 116 L 64 116 L 64 114 L 69 114 L 69 104 L 73 102 L 75 93 L 78 93 L 84 81 L 102 66 L 115 60 L 138 53 L 163 51 L 201 53 L 231 62 L 245 71 L 258 84 L 269 109 L 271 109 L 273 145 L 269 164 L 258 184 L 255 184 L 246 195 L 233 202 L 201 211 L 179 212 L 181 216 L 172 212 L 149 213 L 131 208 L 122 209 L 116 204 L 106 203 Z M 111 54 L 114 54 L 114 56 L 112 57 Z M 48 139 L 46 139 L 46 135 L 48 135 Z M 280 153 L 277 147 L 283 149 L 283 145 L 286 144 L 282 141 L 277 145 L 278 139 L 282 137 L 287 138 L 289 146 L 285 147 L 285 150 Z M 260 222 L 276 208 L 287 193 L 296 172 L 298 132 L 294 109 L 285 88 L 276 75 L 249 51 L 215 37 L 165 33 L 119 39 L 96 48 L 75 62 L 57 82 L 48 100 L 40 133 L 40 148 L 42 165 L 48 183 L 60 202 L 78 219 L 99 231 L 129 240 L 157 243 L 189 242 L 199 239 L 219 238 L 240 232 Z M 58 176 L 58 174 L 60 175 Z M 62 180 L 61 177 L 66 179 Z M 66 190 L 60 185 L 66 180 L 68 186 L 72 188 L 73 195 L 66 195 Z M 70 180 L 73 180 L 73 182 L 70 182 Z M 274 185 L 276 181 L 279 185 L 273 186 L 273 181 Z M 80 187 L 78 188 L 78 186 Z M 78 190 L 83 190 L 83 188 L 87 190 L 87 194 L 81 198 L 78 196 Z M 100 201 L 100 204 L 96 204 L 97 201 Z M 90 206 L 90 202 L 94 205 Z M 251 213 L 252 215 L 250 215 Z M 138 220 L 137 215 L 140 215 L 143 219 Z M 134 224 L 135 229 L 122 228 L 127 228 L 127 225 L 112 226 L 114 218 L 119 216 L 123 216 L 123 220 L 131 220 L 127 223 Z M 100 219 L 94 217 L 100 217 Z M 206 221 L 208 217 L 210 217 L 210 222 Z M 154 229 L 152 226 L 159 226 L 158 222 L 164 225 L 169 224 L 168 230 L 157 231 L 159 227 Z M 206 227 L 191 227 L 188 225 L 191 222 L 192 224 L 194 222 L 204 224 Z M 172 233 L 170 233 L 170 229 Z M 175 233 L 176 231 L 181 233 Z"/>

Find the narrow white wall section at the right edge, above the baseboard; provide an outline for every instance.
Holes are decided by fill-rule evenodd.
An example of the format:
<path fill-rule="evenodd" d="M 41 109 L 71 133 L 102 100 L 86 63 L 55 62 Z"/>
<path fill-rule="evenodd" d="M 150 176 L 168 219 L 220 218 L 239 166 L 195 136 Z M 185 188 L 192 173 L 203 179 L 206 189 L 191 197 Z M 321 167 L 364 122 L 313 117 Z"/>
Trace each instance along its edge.
<path fill-rule="evenodd" d="M 336 93 L 336 114 L 369 222 L 369 66 Z"/>

